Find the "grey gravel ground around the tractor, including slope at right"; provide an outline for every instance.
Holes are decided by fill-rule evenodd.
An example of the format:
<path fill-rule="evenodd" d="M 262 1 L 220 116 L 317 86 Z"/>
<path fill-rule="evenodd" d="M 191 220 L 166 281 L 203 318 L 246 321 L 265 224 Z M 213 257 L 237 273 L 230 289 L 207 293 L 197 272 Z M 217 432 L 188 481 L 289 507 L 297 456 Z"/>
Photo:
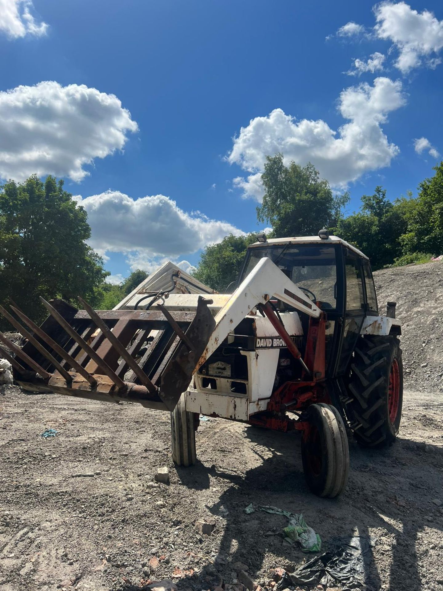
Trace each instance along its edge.
<path fill-rule="evenodd" d="M 139 591 L 167 578 L 180 591 L 220 584 L 244 591 L 236 583 L 240 561 L 271 591 L 273 569 L 294 570 L 312 555 L 285 543 L 284 517 L 247 515 L 253 502 L 302 512 L 322 550 L 333 549 L 337 536 L 371 537 L 367 589 L 442 591 L 443 267 L 437 265 L 375 274 L 380 308 L 397 300 L 403 320 L 403 420 L 387 450 L 350 442 L 350 479 L 338 499 L 308 492 L 298 434 L 202 421 L 197 466 L 177 469 L 166 413 L 2 387 L 1 590 Z M 47 428 L 57 436 L 41 437 Z M 161 466 L 169 468 L 170 485 L 154 481 Z M 196 521 L 211 519 L 214 530 L 200 534 Z"/>

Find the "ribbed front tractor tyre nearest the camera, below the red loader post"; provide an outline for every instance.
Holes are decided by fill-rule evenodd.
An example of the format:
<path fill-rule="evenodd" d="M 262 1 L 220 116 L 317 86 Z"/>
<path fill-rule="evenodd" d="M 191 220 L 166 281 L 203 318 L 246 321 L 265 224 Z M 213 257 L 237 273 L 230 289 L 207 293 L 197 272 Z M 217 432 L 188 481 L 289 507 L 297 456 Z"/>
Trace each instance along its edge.
<path fill-rule="evenodd" d="M 308 408 L 308 428 L 301 441 L 306 482 L 318 496 L 334 498 L 346 486 L 349 447 L 343 419 L 337 409 L 324 404 Z"/>

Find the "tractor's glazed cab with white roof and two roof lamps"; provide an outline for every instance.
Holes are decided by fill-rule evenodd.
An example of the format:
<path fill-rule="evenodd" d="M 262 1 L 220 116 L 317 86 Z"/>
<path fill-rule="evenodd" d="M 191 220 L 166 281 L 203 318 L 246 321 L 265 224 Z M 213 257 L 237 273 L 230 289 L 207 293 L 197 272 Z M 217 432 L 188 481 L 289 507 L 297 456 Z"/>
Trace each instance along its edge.
<path fill-rule="evenodd" d="M 369 259 L 355 246 L 329 236 L 261 240 L 247 249 L 241 282 L 260 259 L 267 257 L 310 300 L 327 314 L 327 375 L 342 375 L 367 316 L 378 316 L 377 297 Z M 280 314 L 294 312 L 290 304 L 271 300 Z M 300 314 L 304 334 L 308 317 Z"/>

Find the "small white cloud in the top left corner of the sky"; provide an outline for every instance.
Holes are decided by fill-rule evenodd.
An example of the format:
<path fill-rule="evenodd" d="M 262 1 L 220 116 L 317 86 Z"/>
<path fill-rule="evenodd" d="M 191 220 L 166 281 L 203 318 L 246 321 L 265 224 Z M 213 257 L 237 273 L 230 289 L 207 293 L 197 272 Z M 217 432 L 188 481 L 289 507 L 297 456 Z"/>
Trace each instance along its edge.
<path fill-rule="evenodd" d="M 12 39 L 45 35 L 48 25 L 35 20 L 31 14 L 33 9 L 31 0 L 0 0 L 0 31 Z"/>

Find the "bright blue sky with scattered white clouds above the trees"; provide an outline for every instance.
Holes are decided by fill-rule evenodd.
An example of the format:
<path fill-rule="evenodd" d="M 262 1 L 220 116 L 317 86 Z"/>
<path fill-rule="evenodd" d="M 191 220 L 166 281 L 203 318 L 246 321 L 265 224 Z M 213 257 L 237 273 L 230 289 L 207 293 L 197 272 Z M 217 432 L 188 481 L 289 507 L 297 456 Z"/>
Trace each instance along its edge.
<path fill-rule="evenodd" d="M 434 0 L 0 0 L 0 178 L 65 178 L 113 276 L 196 264 L 262 229 L 268 152 L 349 212 L 415 191 L 443 151 L 442 47 Z"/>

